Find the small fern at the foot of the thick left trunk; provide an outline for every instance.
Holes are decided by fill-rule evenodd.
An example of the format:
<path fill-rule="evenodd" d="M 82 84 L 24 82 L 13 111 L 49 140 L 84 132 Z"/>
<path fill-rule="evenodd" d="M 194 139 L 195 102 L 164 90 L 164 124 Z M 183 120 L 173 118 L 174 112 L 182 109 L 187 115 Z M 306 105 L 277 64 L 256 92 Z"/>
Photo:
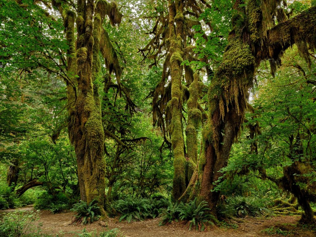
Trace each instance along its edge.
<path fill-rule="evenodd" d="M 77 224 L 87 224 L 92 223 L 96 220 L 97 214 L 99 213 L 100 207 L 98 206 L 98 202 L 96 199 L 92 200 L 89 204 L 80 200 L 79 203 L 73 205 L 73 208 L 70 211 L 77 212 L 75 215 L 75 219 L 73 222 L 77 222 Z"/>

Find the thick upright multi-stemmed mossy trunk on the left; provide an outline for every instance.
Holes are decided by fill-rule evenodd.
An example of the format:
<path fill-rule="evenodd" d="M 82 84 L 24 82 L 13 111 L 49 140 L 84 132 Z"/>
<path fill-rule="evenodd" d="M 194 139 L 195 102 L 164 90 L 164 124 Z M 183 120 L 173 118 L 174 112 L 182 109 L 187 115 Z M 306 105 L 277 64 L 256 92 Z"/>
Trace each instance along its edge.
<path fill-rule="evenodd" d="M 100 76 L 100 51 L 110 47 L 105 44 L 102 22 L 106 15 L 111 23 L 121 21 L 116 3 L 99 0 L 77 1 L 77 16 L 66 2 L 52 2 L 62 14 L 67 51 L 67 98 L 71 143 L 75 147 L 78 183 L 83 201 L 97 199 L 101 215 L 106 217 L 105 202 L 105 159 L 104 129 L 102 125 L 101 103 L 97 85 L 93 81 Z M 76 21 L 76 32 L 74 23 Z M 75 37 L 76 33 L 76 37 Z M 102 52 L 106 63 L 112 62 L 112 55 Z M 108 65 L 107 65 L 108 66 Z M 113 65 L 111 66 L 111 70 Z M 118 75 L 116 75 L 118 76 Z"/>

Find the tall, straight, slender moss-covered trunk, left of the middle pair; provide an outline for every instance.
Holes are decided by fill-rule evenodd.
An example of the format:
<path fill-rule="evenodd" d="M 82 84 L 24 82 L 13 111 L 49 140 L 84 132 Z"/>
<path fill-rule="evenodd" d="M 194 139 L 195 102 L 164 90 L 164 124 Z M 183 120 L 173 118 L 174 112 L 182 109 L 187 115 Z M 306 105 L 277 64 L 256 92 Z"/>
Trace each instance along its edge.
<path fill-rule="evenodd" d="M 171 71 L 170 133 L 174 155 L 174 176 L 172 196 L 177 200 L 185 191 L 185 154 L 182 128 L 182 66 L 183 61 L 183 2 L 169 0 L 169 54 Z"/>

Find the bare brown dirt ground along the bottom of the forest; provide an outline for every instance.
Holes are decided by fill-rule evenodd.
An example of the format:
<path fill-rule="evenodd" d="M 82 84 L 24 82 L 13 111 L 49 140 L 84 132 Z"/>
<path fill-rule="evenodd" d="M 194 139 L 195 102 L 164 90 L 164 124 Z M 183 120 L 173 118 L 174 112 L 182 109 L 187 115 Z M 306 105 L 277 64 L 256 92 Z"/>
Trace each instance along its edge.
<path fill-rule="evenodd" d="M 21 210 L 31 210 L 32 207 L 24 207 Z M 7 210 L 8 212 L 10 210 Z M 1 211 L 4 212 L 4 211 Z M 222 227 L 209 227 L 206 231 L 189 231 L 185 223 L 174 222 L 165 226 L 158 226 L 159 218 L 148 219 L 142 222 L 119 222 L 117 218 L 111 218 L 108 227 L 101 226 L 102 222 L 93 222 L 90 225 L 70 224 L 72 212 L 51 214 L 49 211 L 41 211 L 38 222 L 42 223 L 42 231 L 45 234 L 56 236 L 77 236 L 84 228 L 88 232 L 106 231 L 118 228 L 125 237 L 264 237 L 264 236 L 290 236 L 290 237 L 315 237 L 316 228 L 307 228 L 299 225 L 300 216 L 272 216 L 266 218 L 246 217 L 235 219 L 233 223 Z M 103 222 L 104 223 L 104 222 Z M 238 225 L 238 227 L 237 227 Z M 226 226 L 226 227 L 225 227 Z M 232 228 L 234 227 L 234 228 Z"/>

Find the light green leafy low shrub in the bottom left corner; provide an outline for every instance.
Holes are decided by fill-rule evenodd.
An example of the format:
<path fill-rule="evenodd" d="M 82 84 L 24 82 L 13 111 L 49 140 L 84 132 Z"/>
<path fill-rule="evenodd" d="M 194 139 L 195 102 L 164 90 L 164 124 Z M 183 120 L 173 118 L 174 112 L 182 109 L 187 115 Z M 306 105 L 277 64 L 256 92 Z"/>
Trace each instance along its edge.
<path fill-rule="evenodd" d="M 41 225 L 35 225 L 38 212 L 16 210 L 5 214 L 0 220 L 0 236 L 6 237 L 44 237 Z"/>

